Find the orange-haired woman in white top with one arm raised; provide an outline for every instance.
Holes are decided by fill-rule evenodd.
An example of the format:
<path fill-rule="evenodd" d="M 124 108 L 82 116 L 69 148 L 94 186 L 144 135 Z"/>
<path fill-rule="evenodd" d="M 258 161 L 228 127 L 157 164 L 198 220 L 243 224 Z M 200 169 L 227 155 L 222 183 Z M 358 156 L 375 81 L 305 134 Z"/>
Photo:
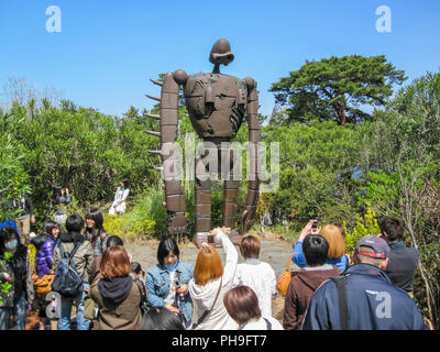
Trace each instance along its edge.
<path fill-rule="evenodd" d="M 237 322 L 228 315 L 223 296 L 233 286 L 239 253 L 228 237 L 229 228 L 215 229 L 215 242 L 221 243 L 226 253 L 223 266 L 213 246 L 204 242 L 189 282 L 189 294 L 197 309 L 195 330 L 237 330 Z M 227 233 L 224 233 L 227 232 Z M 200 321 L 200 317 L 204 317 Z"/>

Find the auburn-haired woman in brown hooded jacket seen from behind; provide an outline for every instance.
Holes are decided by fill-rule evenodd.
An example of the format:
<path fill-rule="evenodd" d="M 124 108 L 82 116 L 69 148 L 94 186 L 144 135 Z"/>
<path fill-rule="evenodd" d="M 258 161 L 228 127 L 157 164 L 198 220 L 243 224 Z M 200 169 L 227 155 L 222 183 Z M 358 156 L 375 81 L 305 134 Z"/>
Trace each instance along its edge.
<path fill-rule="evenodd" d="M 94 330 L 140 330 L 141 292 L 130 275 L 130 257 L 123 246 L 109 246 L 90 287 L 99 307 Z"/>

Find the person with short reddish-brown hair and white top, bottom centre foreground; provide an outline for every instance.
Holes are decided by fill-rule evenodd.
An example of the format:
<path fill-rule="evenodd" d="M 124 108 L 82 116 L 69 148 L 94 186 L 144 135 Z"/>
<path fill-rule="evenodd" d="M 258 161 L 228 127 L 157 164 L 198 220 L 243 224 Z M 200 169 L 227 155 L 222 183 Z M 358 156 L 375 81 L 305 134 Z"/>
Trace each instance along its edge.
<path fill-rule="evenodd" d="M 258 298 L 245 285 L 230 289 L 223 296 L 228 315 L 238 323 L 238 330 L 283 330 L 282 324 L 271 316 L 262 316 Z"/>

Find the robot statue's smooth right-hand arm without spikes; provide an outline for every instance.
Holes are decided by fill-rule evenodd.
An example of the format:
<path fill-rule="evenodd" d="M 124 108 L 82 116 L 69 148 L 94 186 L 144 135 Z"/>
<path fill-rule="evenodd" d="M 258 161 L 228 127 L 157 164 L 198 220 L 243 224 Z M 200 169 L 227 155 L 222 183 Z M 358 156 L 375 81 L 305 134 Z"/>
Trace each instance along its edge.
<path fill-rule="evenodd" d="M 244 79 L 248 86 L 248 123 L 249 123 L 249 153 L 250 153 L 250 170 L 248 198 L 244 211 L 241 217 L 243 222 L 243 231 L 251 229 L 255 219 L 256 205 L 258 202 L 258 142 L 261 142 L 261 124 L 258 117 L 258 94 L 256 90 L 256 81 L 248 77 Z"/>

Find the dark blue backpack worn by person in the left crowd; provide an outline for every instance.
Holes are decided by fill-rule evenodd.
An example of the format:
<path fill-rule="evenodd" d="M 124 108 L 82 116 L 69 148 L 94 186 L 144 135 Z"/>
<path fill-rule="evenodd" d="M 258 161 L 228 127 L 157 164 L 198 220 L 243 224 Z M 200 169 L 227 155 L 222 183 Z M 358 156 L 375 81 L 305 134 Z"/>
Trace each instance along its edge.
<path fill-rule="evenodd" d="M 52 282 L 52 290 L 58 293 L 65 298 L 75 298 L 81 293 L 82 276 L 79 276 L 73 257 L 80 246 L 77 243 L 74 250 L 68 254 L 61 241 L 57 242 L 62 260 L 54 273 L 54 280 Z"/>

